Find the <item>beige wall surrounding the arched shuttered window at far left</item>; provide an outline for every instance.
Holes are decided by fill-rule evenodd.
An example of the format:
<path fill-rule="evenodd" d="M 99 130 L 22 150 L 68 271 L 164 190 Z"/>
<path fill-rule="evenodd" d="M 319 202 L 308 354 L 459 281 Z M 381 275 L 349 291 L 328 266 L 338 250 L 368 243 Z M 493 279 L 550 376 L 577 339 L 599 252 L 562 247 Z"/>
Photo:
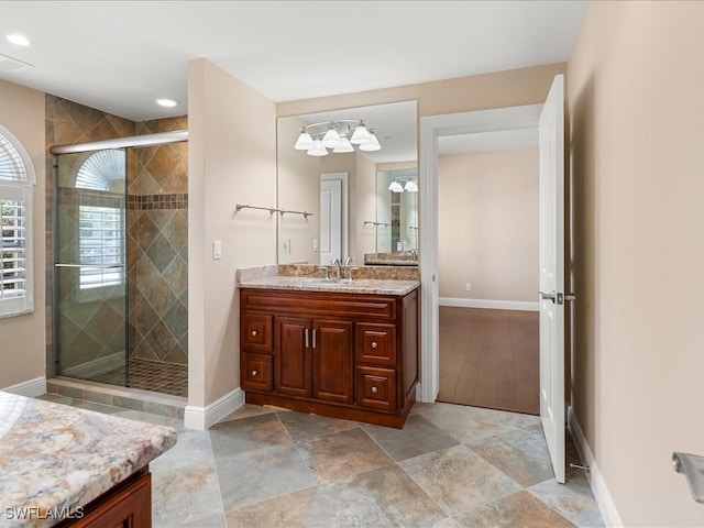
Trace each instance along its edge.
<path fill-rule="evenodd" d="M 34 172 L 34 314 L 0 319 L 0 387 L 42 377 L 46 372 L 44 250 L 44 94 L 0 80 L 0 123 L 26 148 Z"/>

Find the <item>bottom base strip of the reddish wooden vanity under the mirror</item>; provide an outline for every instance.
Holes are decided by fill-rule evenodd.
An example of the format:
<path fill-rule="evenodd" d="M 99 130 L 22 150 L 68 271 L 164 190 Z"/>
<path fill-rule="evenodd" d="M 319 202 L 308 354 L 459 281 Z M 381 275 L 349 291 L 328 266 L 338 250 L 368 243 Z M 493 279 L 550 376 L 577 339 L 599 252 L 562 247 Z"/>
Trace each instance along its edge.
<path fill-rule="evenodd" d="M 320 402 L 307 399 L 295 399 L 290 396 L 278 396 L 276 394 L 262 394 L 248 391 L 245 402 L 253 405 L 271 405 L 284 409 L 297 410 L 299 413 L 310 413 L 314 415 L 328 416 L 330 418 L 341 418 L 343 420 L 363 421 L 375 426 L 394 427 L 402 429 L 406 424 L 408 413 L 416 403 L 416 392 L 411 392 L 407 398 L 407 405 L 398 415 L 371 413 L 360 407 L 342 407 L 339 405 L 328 405 Z"/>

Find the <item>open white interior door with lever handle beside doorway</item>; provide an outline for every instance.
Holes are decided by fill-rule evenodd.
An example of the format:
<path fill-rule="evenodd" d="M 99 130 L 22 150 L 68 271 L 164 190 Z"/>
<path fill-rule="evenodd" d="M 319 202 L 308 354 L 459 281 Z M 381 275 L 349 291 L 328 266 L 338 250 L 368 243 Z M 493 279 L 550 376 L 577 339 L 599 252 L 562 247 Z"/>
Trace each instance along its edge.
<path fill-rule="evenodd" d="M 540 113 L 540 419 L 564 483 L 564 84 L 556 76 Z"/>

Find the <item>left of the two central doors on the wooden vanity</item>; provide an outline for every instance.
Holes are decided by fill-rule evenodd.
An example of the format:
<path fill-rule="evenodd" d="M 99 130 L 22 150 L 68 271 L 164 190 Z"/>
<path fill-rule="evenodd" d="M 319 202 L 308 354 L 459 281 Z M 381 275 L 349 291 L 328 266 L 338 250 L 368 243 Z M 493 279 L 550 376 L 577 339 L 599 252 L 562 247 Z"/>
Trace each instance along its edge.
<path fill-rule="evenodd" d="M 274 319 L 274 389 L 309 398 L 312 395 L 312 321 L 297 317 Z"/>

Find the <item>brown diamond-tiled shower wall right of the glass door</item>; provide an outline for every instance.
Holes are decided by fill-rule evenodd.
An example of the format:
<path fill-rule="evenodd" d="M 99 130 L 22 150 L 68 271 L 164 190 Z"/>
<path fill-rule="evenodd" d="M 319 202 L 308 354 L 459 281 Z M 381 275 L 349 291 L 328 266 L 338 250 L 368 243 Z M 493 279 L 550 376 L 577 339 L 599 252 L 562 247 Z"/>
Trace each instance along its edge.
<path fill-rule="evenodd" d="M 185 118 L 138 123 L 185 130 Z M 130 358 L 188 364 L 188 145 L 134 148 L 129 166 Z"/>

